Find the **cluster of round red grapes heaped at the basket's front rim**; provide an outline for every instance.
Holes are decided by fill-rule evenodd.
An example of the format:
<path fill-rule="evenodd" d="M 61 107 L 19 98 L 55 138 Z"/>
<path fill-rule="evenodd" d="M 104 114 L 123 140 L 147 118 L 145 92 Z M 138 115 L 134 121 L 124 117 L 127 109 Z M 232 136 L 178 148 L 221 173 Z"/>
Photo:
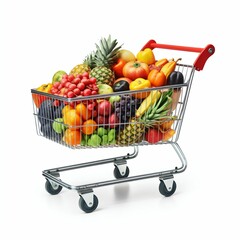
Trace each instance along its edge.
<path fill-rule="evenodd" d="M 66 98 L 74 98 L 78 96 L 90 96 L 98 94 L 98 86 L 96 78 L 89 78 L 89 73 L 65 74 L 60 82 L 55 82 L 51 89 L 52 94 Z"/>

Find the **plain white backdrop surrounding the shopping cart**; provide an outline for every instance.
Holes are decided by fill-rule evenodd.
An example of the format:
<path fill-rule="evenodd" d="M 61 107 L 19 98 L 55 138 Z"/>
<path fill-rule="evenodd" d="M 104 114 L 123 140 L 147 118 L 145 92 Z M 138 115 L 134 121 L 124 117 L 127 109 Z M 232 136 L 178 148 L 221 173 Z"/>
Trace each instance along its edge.
<path fill-rule="evenodd" d="M 236 4 L 1 1 L 1 239 L 239 239 Z M 50 196 L 45 191 L 42 170 L 125 150 L 74 151 L 38 137 L 30 89 L 50 82 L 57 70 L 70 71 L 108 34 L 134 53 L 149 39 L 196 47 L 211 43 L 216 52 L 194 77 L 179 139 L 188 168 L 175 177 L 176 193 L 160 195 L 158 179 L 97 188 L 99 206 L 85 214 L 76 192 L 63 189 Z M 129 161 L 130 174 L 172 167 L 170 152 L 161 146 L 140 148 L 139 157 Z M 111 179 L 112 170 L 101 166 L 80 175 L 94 182 Z M 77 173 L 66 179 L 80 184 Z"/>

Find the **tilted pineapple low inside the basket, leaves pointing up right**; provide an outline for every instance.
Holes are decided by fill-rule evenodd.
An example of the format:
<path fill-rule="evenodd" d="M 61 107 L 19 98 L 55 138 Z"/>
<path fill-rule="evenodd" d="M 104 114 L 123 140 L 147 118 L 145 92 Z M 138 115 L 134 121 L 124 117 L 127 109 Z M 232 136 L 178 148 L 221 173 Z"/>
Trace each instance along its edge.
<path fill-rule="evenodd" d="M 172 118 L 170 115 L 172 93 L 172 90 L 163 92 L 160 98 L 141 117 L 130 119 L 125 128 L 118 133 L 117 144 L 126 146 L 139 143 L 143 139 L 146 128 L 153 127 L 156 122 Z"/>

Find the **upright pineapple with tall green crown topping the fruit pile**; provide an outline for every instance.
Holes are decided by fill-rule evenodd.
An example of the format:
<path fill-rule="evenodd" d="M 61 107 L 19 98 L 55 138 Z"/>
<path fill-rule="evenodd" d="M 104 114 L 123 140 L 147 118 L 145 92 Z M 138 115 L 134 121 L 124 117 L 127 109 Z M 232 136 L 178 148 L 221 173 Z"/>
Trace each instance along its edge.
<path fill-rule="evenodd" d="M 117 47 L 117 40 L 111 40 L 109 35 L 108 39 L 102 38 L 100 44 L 96 44 L 96 52 L 91 59 L 93 68 L 90 71 L 90 76 L 97 79 L 97 84 L 108 84 L 112 86 L 115 80 L 114 72 L 111 70 L 113 64 L 117 62 L 118 51 L 121 46 Z"/>

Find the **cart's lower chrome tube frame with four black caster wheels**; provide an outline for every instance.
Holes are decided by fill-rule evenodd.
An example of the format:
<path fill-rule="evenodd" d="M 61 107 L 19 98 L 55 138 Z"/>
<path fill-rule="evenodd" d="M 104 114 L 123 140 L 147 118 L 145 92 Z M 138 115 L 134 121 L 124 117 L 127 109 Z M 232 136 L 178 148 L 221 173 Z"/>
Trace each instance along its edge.
<path fill-rule="evenodd" d="M 168 144 L 170 144 L 173 147 L 175 153 L 177 154 L 181 162 L 181 165 L 179 167 L 175 167 L 174 169 L 170 170 L 129 177 L 130 170 L 129 167 L 127 166 L 127 160 L 137 157 L 139 152 L 138 146 L 134 146 L 133 153 L 128 153 L 124 156 L 44 170 L 42 174 L 46 178 L 45 184 L 46 191 L 52 195 L 60 193 L 63 187 L 69 190 L 77 191 L 78 195 L 80 196 L 79 207 L 86 213 L 93 212 L 98 206 L 98 198 L 93 192 L 93 189 L 97 187 L 158 177 L 160 180 L 159 192 L 162 195 L 169 197 L 176 191 L 176 182 L 174 181 L 174 174 L 185 171 L 187 167 L 187 161 L 182 149 L 176 142 L 169 142 Z M 63 171 L 70 171 L 107 163 L 114 164 L 113 175 L 115 179 L 89 183 L 84 185 L 70 185 L 60 178 L 60 172 Z"/>

